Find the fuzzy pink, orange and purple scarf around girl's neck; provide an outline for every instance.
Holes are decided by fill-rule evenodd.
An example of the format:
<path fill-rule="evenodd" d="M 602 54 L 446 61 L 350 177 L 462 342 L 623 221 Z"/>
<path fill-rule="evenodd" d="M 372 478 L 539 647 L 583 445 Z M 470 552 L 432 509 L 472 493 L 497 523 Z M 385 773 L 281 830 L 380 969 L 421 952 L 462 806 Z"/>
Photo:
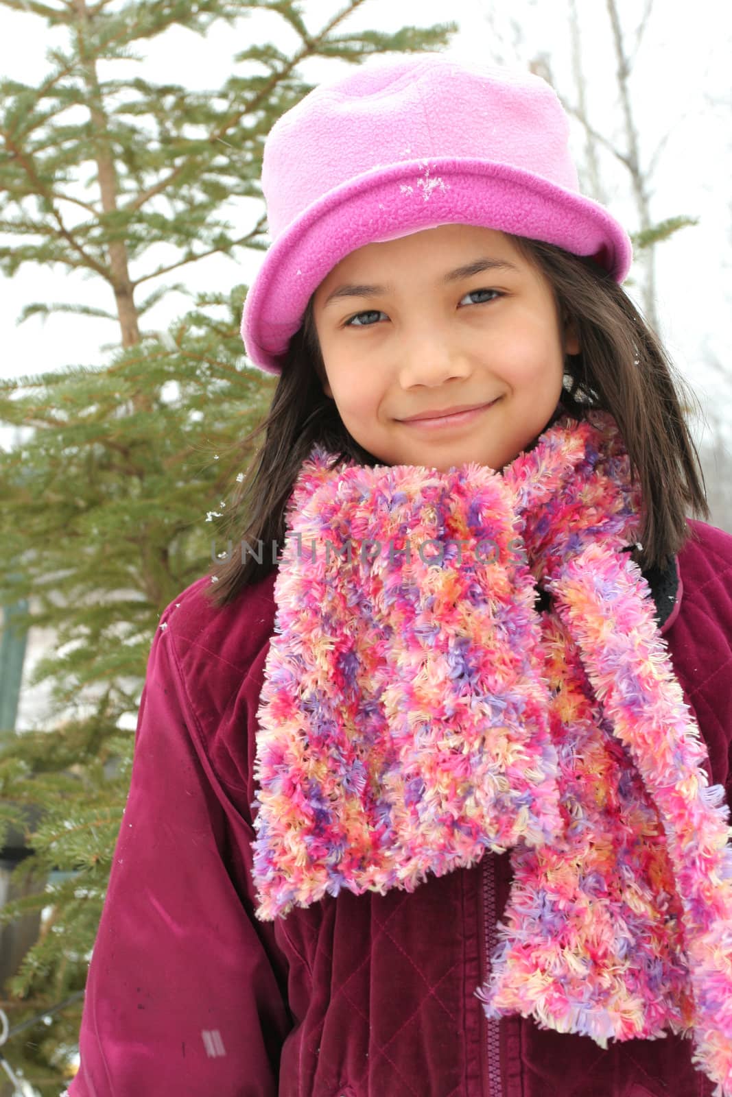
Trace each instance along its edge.
<path fill-rule="evenodd" d="M 302 466 L 274 586 L 257 916 L 510 849 L 486 1015 L 691 1030 L 728 1097 L 729 808 L 627 551 L 615 421 L 563 417 L 502 473 L 335 459 Z"/>

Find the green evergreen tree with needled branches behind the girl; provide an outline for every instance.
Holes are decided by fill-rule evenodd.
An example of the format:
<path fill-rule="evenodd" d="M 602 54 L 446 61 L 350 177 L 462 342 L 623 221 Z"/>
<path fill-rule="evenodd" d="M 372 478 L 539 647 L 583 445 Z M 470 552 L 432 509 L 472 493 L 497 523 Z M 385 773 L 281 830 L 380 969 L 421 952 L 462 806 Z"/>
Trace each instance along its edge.
<path fill-rule="evenodd" d="M 37 86 L 0 84 L 1 268 L 83 271 L 106 287 L 108 309 L 38 302 L 24 316 L 65 310 L 116 325 L 98 367 L 71 365 L 0 388 L 0 420 L 33 428 L 0 452 L 0 534 L 12 562 L 0 574 L 0 604 L 30 599 L 15 627 L 42 625 L 56 636 L 34 676 L 53 686 L 53 716 L 8 733 L 0 753 L 0 847 L 11 826 L 25 826 L 31 856 L 13 878 L 38 882 L 0 920 L 50 911 L 2 1007 L 12 1031 L 78 995 L 2 1051 L 40 1093 L 57 1095 L 76 1049 L 151 636 L 165 606 L 209 567 L 215 516 L 250 456 L 238 440 L 263 418 L 274 385 L 243 360 L 246 285 L 199 294 L 162 335 L 145 330 L 146 314 L 180 289 L 173 272 L 267 246 L 261 203 L 248 228 L 241 211 L 252 203 L 238 213 L 236 203 L 261 197 L 264 137 L 312 87 L 302 63 L 431 49 L 457 27 L 349 33 L 344 24 L 364 0 L 347 0 L 319 31 L 308 30 L 306 4 L 295 0 L 0 2 L 27 12 L 30 30 L 40 16 L 67 32 Z M 206 92 L 188 89 L 184 71 L 180 84 L 125 75 L 147 39 L 176 27 L 203 35 L 259 11 L 295 32 L 291 56 L 271 42 L 249 45 Z M 245 25 L 251 41 L 251 19 Z M 126 64 L 115 71 L 116 61 Z"/>

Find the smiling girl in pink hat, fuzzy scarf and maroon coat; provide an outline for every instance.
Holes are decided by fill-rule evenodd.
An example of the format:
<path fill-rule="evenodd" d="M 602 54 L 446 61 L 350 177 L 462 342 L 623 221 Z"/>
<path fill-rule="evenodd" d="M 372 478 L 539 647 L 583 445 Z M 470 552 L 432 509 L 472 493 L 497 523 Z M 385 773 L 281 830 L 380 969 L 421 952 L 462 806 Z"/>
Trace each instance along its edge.
<path fill-rule="evenodd" d="M 432 54 L 273 127 L 279 386 L 153 642 L 72 1097 L 732 1095 L 732 538 L 567 133 Z"/>

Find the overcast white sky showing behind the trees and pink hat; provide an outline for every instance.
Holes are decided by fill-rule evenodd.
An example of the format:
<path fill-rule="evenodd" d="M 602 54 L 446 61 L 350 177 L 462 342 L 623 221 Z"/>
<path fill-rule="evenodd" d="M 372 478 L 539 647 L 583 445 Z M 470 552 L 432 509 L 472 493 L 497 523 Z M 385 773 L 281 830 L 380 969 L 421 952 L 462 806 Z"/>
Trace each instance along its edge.
<path fill-rule="evenodd" d="M 644 4 L 619 0 L 626 33 L 631 39 Z M 304 0 L 305 21 L 318 29 L 338 9 L 336 0 Z M 578 4 L 583 20 L 583 63 L 589 77 L 589 113 L 608 138 L 622 142 L 617 88 L 612 78 L 613 57 L 604 0 Z M 492 30 L 487 13 L 496 9 L 500 35 Z M 691 14 L 692 13 L 692 14 Z M 732 168 L 732 93 L 729 80 L 732 19 L 730 5 L 717 0 L 696 0 L 685 18 L 679 5 L 655 0 L 649 26 L 640 46 L 633 76 L 633 109 L 641 128 L 642 158 L 649 161 L 657 143 L 671 131 L 654 177 L 653 216 L 674 214 L 699 217 L 699 225 L 677 234 L 657 251 L 658 313 L 662 335 L 672 358 L 699 392 L 709 408 L 732 422 L 732 372 L 713 367 L 716 357 L 725 370 L 732 328 L 730 293 L 732 267 L 732 211 L 729 180 Z M 510 19 L 519 21 L 523 44 L 518 56 L 551 56 L 560 91 L 574 99 L 570 68 L 570 36 L 566 0 L 367 0 L 344 24 L 344 30 L 379 27 L 396 30 L 403 23 L 429 25 L 448 18 L 460 24 L 450 52 L 472 59 L 516 60 Z M 173 30 L 147 48 L 140 63 L 128 63 L 151 80 L 172 80 L 201 88 L 215 88 L 237 49 L 269 37 L 288 52 L 294 35 L 271 13 L 255 13 L 232 29 L 217 27 L 202 41 L 187 31 Z M 63 44 L 63 32 L 53 36 L 42 20 L 23 12 L 0 9 L 2 68 L 7 76 L 36 81 L 46 69 L 45 53 Z M 341 63 L 315 60 L 302 71 L 317 81 L 339 71 Z M 117 67 L 117 75 L 119 75 Z M 717 105 L 716 105 L 717 104 Z M 577 155 L 583 134 L 574 131 Z M 610 154 L 604 154 L 604 185 L 611 212 L 633 230 L 637 216 L 629 197 L 623 171 Z M 251 223 L 251 207 L 241 211 L 243 224 Z M 228 289 L 249 280 L 261 257 L 252 253 L 235 264 L 212 258 L 176 272 L 191 289 Z M 638 271 L 631 271 L 631 276 Z M 150 286 L 151 287 L 151 286 Z M 631 291 L 632 292 L 632 291 Z M 38 297 L 75 301 L 111 307 L 103 287 L 82 275 L 69 276 L 60 269 L 27 267 L 13 280 L 2 281 L 0 309 L 0 373 L 18 376 L 66 364 L 97 364 L 103 361 L 99 347 L 116 338 L 116 329 L 104 321 L 76 317 L 32 319 L 22 326 L 15 320 L 24 304 Z M 182 297 L 164 303 L 149 315 L 148 327 L 164 328 L 184 307 Z"/>

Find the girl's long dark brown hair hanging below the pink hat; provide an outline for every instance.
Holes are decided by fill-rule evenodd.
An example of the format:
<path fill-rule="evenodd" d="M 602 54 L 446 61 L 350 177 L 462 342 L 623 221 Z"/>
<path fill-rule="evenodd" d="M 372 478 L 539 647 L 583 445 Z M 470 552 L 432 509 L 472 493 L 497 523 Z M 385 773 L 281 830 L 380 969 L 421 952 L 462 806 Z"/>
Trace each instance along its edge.
<path fill-rule="evenodd" d="M 558 315 L 572 324 L 582 348 L 565 357 L 561 410 L 550 422 L 560 414 L 582 419 L 590 409 L 613 416 L 644 500 L 642 550 L 633 558 L 644 570 L 665 568 L 689 535 L 686 514 L 709 518 L 703 473 L 686 422 L 686 414 L 698 407 L 696 396 L 622 286 L 593 259 L 538 240 L 509 239 L 547 279 Z M 336 463 L 344 457 L 379 463 L 346 430 L 323 392 L 325 381 L 311 297 L 269 414 L 241 442 L 244 449 L 264 434 L 228 511 L 227 558 L 211 568 L 214 581 L 205 589 L 216 606 L 277 566 L 288 499 L 316 442 L 336 454 Z"/>

